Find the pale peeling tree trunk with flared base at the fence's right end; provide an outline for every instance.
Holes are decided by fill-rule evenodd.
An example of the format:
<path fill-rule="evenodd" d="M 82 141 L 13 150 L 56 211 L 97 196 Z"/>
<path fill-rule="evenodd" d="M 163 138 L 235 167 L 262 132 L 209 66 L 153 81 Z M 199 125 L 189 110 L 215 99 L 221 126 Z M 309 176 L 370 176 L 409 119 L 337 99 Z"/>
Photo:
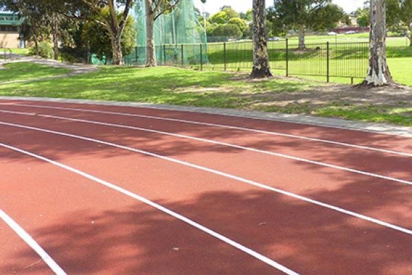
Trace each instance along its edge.
<path fill-rule="evenodd" d="M 362 85 L 378 87 L 393 84 L 386 56 L 385 0 L 370 1 L 369 69 Z"/>

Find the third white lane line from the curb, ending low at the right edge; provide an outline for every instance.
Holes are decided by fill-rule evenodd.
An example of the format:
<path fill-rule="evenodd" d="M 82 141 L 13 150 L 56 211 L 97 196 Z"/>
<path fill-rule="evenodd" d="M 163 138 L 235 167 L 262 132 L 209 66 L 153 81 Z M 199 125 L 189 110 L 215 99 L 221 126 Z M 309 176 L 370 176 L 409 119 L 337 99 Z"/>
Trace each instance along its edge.
<path fill-rule="evenodd" d="M 243 177 L 238 177 L 238 176 L 231 175 L 231 174 L 219 171 L 219 170 L 214 170 L 214 169 L 207 168 L 207 167 L 204 167 L 204 166 L 200 166 L 200 165 L 197 165 L 197 164 L 192 164 L 190 162 L 183 162 L 182 160 L 174 159 L 172 157 L 165 157 L 164 155 L 158 155 L 158 154 L 155 154 L 155 153 L 150 153 L 150 152 L 147 152 L 147 151 L 139 150 L 139 149 L 136 149 L 136 148 L 131 148 L 131 147 L 128 147 L 128 146 L 114 144 L 114 143 L 111 143 L 111 142 L 104 142 L 102 140 L 95 140 L 91 137 L 83 137 L 83 136 L 80 136 L 80 135 L 73 135 L 73 134 L 70 134 L 70 133 L 62 133 L 62 132 L 57 132 L 57 131 L 40 129 L 40 128 L 36 128 L 36 127 L 32 127 L 32 126 L 24 126 L 24 125 L 12 124 L 12 123 L 7 123 L 7 122 L 0 122 L 0 124 L 8 125 L 8 126 L 14 126 L 14 127 L 23 128 L 23 129 L 30 129 L 30 130 L 34 130 L 34 131 L 41 131 L 41 132 L 45 132 L 45 133 L 53 133 L 55 135 L 63 135 L 63 136 L 66 136 L 66 137 L 73 137 L 73 138 L 77 138 L 77 139 L 80 139 L 80 140 L 87 140 L 89 142 L 95 142 L 95 143 L 104 144 L 104 145 L 107 145 L 107 146 L 122 148 L 124 150 L 132 151 L 132 152 L 135 152 L 135 153 L 141 153 L 143 155 L 150 155 L 150 157 L 157 157 L 159 159 L 167 160 L 168 162 L 174 162 L 176 164 L 182 164 L 184 166 L 189 166 L 191 168 L 195 168 L 195 169 L 198 169 L 198 170 L 203 170 L 203 171 L 206 171 L 208 173 L 212 173 L 212 174 L 215 174 L 215 175 L 220 175 L 222 177 L 227 177 L 229 179 L 235 179 L 236 181 L 241 181 L 244 184 L 249 184 L 251 186 L 256 186 L 256 187 L 259 187 L 259 188 L 263 188 L 265 190 L 270 190 L 270 191 L 273 191 L 273 192 L 277 192 L 279 194 L 286 195 L 288 197 L 293 197 L 293 198 L 299 199 L 301 201 L 306 201 L 308 203 L 312 203 L 314 205 L 321 206 L 323 208 L 328 208 L 328 209 L 331 209 L 331 210 L 335 210 L 337 212 L 341 212 L 343 214 L 347 214 L 347 215 L 350 215 L 352 217 L 356 217 L 358 219 L 363 219 L 363 220 L 369 221 L 371 223 L 376 223 L 378 225 L 382 225 L 386 228 L 391 228 L 393 230 L 397 230 L 399 232 L 403 232 L 403 233 L 412 235 L 412 230 L 410 230 L 408 228 L 402 228 L 398 225 L 393 225 L 391 223 L 387 223 L 386 221 L 381 221 L 379 219 L 374 219 L 372 217 L 368 217 L 368 216 L 365 216 L 363 214 L 359 214 L 359 213 L 356 213 L 356 212 L 353 212 L 353 211 L 350 211 L 350 210 L 339 208 L 337 206 L 332 206 L 328 203 L 323 203 L 321 201 L 317 201 L 317 200 L 314 200 L 314 199 L 309 199 L 308 197 L 297 195 L 293 192 L 288 192 L 288 191 L 285 191 L 285 190 L 282 190 L 282 189 L 279 189 L 279 188 L 275 188 L 275 187 L 268 186 L 268 185 L 265 185 L 265 184 L 260 184 L 259 182 L 252 181 L 250 179 L 244 179 Z"/>

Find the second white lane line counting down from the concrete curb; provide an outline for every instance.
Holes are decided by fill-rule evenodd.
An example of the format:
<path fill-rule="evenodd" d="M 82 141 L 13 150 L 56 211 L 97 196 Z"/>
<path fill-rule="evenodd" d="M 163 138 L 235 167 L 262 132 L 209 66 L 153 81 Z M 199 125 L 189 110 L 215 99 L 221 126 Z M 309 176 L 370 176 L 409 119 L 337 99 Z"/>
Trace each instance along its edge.
<path fill-rule="evenodd" d="M 146 128 L 135 127 L 135 126 L 127 126 L 127 125 L 122 125 L 122 124 L 111 124 L 111 123 L 107 123 L 107 122 L 98 122 L 98 121 L 93 121 L 93 120 L 82 120 L 82 119 L 78 119 L 78 118 L 67 118 L 67 117 L 58 116 L 58 115 L 42 115 L 40 113 L 34 114 L 34 113 L 24 113 L 24 112 L 18 112 L 18 111 L 3 111 L 3 110 L 0 110 L 0 113 L 12 113 L 12 114 L 16 114 L 16 115 L 32 115 L 32 116 L 38 116 L 38 117 L 43 117 L 43 118 L 54 118 L 54 119 L 58 119 L 58 120 L 69 120 L 69 121 L 73 121 L 73 122 L 98 124 L 98 125 L 103 125 L 103 126 L 111 126 L 111 127 L 130 129 L 130 130 L 136 130 L 136 131 L 146 131 L 146 132 L 150 132 L 150 133 L 158 133 L 160 135 L 171 135 L 173 137 L 185 138 L 185 139 L 189 139 L 189 140 L 196 140 L 196 141 L 199 141 L 199 142 L 207 142 L 207 143 L 221 145 L 221 146 L 228 146 L 228 147 L 232 147 L 232 148 L 238 148 L 238 149 L 241 149 L 241 150 L 252 151 L 252 152 L 255 152 L 255 153 L 273 155 L 275 157 L 284 157 L 286 159 L 293 159 L 293 160 L 296 160 L 298 162 L 306 162 L 306 163 L 309 163 L 309 164 L 325 166 L 325 167 L 328 167 L 328 168 L 334 168 L 334 169 L 343 170 L 343 171 L 350 172 L 350 173 L 366 175 L 366 176 L 369 176 L 369 177 L 376 177 L 378 179 L 385 179 L 385 180 L 388 180 L 388 181 L 395 181 L 395 182 L 398 182 L 400 184 L 407 184 L 407 185 L 412 186 L 412 181 L 407 181 L 406 179 L 398 179 L 396 177 L 387 177 L 387 176 L 384 176 L 384 175 L 379 175 L 379 174 L 376 174 L 376 173 L 370 173 L 370 172 L 363 171 L 363 170 L 347 168 L 347 167 L 344 167 L 344 166 L 328 164 L 328 163 L 325 163 L 325 162 L 317 162 L 317 161 L 310 160 L 310 159 L 304 159 L 304 158 L 301 158 L 301 157 L 293 157 L 291 155 L 285 155 L 285 154 L 275 153 L 275 152 L 271 152 L 271 151 L 264 151 L 264 150 L 260 150 L 260 149 L 256 149 L 256 148 L 247 147 L 247 146 L 241 146 L 241 145 L 236 145 L 236 144 L 231 144 L 231 143 L 226 143 L 226 142 L 218 142 L 218 141 L 215 141 L 215 140 L 206 140 L 204 138 L 192 137 L 190 135 L 181 135 L 181 134 L 177 134 L 177 133 L 157 131 L 157 130 L 153 130 L 153 129 L 146 129 Z"/>

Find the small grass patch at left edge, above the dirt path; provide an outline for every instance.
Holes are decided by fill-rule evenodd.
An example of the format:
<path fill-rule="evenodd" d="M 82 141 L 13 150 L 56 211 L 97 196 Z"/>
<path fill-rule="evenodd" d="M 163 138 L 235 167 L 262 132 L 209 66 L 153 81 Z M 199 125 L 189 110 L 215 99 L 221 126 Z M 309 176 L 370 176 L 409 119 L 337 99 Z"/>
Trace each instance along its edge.
<path fill-rule="evenodd" d="M 58 76 L 71 72 L 71 69 L 49 67 L 36 63 L 8 63 L 0 69 L 0 82 L 12 80 L 32 80 L 49 76 Z"/>

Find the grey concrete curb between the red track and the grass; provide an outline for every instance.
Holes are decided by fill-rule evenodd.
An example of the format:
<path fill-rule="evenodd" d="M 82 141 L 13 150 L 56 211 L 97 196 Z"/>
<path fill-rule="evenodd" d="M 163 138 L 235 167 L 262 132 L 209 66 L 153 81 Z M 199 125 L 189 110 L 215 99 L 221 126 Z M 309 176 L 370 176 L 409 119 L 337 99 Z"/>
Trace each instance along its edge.
<path fill-rule="evenodd" d="M 336 129 L 347 129 L 354 131 L 363 131 L 369 133 L 380 133 L 385 135 L 400 135 L 403 137 L 412 137 L 412 127 L 396 126 L 384 123 L 354 122 L 342 120 L 339 118 L 319 118 L 310 115 L 290 115 L 284 113 L 266 113 L 260 111 L 244 111 L 236 109 L 219 109 L 207 107 L 177 106 L 168 104 L 153 104 L 140 102 L 117 102 L 106 100 L 80 100 L 70 98 L 32 98 L 18 96 L 0 96 L 0 100 L 27 100 L 43 102 L 62 102 L 62 103 L 80 103 L 80 104 L 100 104 L 108 106 L 122 107 L 140 107 L 148 109 L 164 109 L 171 111 L 188 111 L 194 113 L 208 113 L 214 115 L 229 115 L 239 118 L 251 118 L 260 120 L 273 120 L 279 122 L 289 122 L 295 124 L 305 124 L 321 127 L 330 127 Z"/>

